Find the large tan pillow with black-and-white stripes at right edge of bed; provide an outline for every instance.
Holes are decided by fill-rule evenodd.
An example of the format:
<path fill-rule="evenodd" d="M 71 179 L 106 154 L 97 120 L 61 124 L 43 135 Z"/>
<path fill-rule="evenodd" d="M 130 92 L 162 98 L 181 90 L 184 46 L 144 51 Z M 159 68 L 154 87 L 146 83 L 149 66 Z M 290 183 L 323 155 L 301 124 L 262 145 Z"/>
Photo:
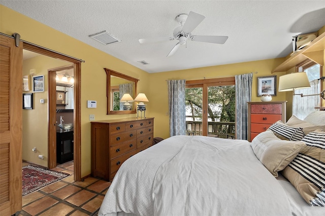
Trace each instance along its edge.
<path fill-rule="evenodd" d="M 306 147 L 282 174 L 309 205 L 325 206 L 325 132 L 315 130 L 302 141 Z"/>

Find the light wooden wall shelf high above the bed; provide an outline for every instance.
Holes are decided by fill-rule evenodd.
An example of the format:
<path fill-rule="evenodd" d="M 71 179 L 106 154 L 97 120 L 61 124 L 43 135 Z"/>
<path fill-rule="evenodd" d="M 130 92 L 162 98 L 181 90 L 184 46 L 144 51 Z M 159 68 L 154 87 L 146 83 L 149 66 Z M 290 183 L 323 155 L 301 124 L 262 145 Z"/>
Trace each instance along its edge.
<path fill-rule="evenodd" d="M 303 49 L 299 50 L 296 54 L 289 56 L 283 63 L 277 66 L 272 73 L 285 72 L 306 59 L 311 59 L 320 65 L 324 65 L 324 49 L 325 32 L 320 34 L 316 39 Z"/>

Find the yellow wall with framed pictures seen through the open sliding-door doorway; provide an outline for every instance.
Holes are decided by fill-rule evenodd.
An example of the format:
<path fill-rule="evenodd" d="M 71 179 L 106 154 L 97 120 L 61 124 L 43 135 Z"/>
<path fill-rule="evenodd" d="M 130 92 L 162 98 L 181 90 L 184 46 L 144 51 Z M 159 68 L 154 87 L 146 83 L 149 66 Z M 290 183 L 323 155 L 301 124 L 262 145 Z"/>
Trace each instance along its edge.
<path fill-rule="evenodd" d="M 23 61 L 23 75 L 30 76 L 30 91 L 32 93 L 32 77 L 44 75 L 44 92 L 34 92 L 34 107 L 32 110 L 23 110 L 22 125 L 22 159 L 41 166 L 48 166 L 48 69 L 66 66 L 66 61 L 50 58 L 44 55 L 30 58 Z M 32 73 L 30 74 L 30 71 Z M 40 103 L 40 99 L 45 99 L 45 103 Z M 55 114 L 54 114 L 55 115 Z M 31 151 L 36 147 L 37 152 Z M 43 155 L 44 160 L 38 156 Z"/>

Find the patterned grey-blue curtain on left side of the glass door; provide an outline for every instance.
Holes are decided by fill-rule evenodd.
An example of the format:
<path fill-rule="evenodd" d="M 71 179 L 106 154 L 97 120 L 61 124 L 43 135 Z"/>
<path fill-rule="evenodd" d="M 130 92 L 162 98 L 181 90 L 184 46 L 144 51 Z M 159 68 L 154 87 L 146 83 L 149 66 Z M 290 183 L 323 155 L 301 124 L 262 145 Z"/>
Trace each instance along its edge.
<path fill-rule="evenodd" d="M 185 135 L 185 80 L 168 81 L 170 135 Z"/>

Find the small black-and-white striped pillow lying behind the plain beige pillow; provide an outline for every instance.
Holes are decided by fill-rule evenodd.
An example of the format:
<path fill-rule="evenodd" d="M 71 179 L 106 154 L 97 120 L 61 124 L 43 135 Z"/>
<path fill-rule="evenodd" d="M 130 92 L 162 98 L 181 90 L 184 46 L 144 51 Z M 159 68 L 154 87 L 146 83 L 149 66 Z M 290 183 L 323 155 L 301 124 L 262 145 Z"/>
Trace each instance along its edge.
<path fill-rule="evenodd" d="M 272 130 L 278 138 L 290 141 L 300 141 L 305 136 L 302 128 L 290 127 L 284 124 L 282 121 L 277 121 L 271 125 L 269 130 Z"/>

